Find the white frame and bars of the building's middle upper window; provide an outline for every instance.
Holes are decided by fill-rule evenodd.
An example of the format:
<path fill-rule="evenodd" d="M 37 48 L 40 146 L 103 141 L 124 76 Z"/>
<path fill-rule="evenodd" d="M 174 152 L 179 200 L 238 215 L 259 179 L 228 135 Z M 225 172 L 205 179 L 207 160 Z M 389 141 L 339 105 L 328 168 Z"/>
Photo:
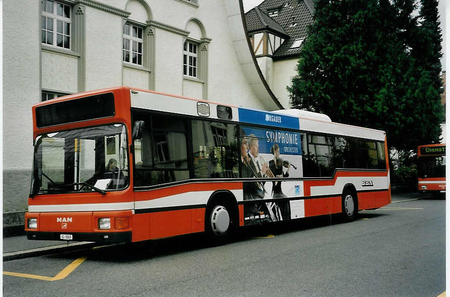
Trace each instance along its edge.
<path fill-rule="evenodd" d="M 125 32 L 126 26 L 129 27 L 129 34 Z M 133 36 L 133 28 L 136 28 L 136 36 Z M 126 22 L 122 26 L 122 62 L 127 65 L 136 65 L 144 67 L 144 29 L 142 26 Z M 141 34 L 140 34 L 141 33 Z M 141 35 L 141 38 L 139 37 Z M 136 51 L 133 50 L 134 42 L 136 42 Z M 126 49 L 128 43 L 128 50 Z M 139 45 L 141 45 L 141 52 L 139 52 Z M 128 52 L 128 61 L 125 59 L 125 53 Z M 133 62 L 133 54 L 136 54 L 136 63 Z M 141 58 L 141 63 L 139 63 Z"/>

